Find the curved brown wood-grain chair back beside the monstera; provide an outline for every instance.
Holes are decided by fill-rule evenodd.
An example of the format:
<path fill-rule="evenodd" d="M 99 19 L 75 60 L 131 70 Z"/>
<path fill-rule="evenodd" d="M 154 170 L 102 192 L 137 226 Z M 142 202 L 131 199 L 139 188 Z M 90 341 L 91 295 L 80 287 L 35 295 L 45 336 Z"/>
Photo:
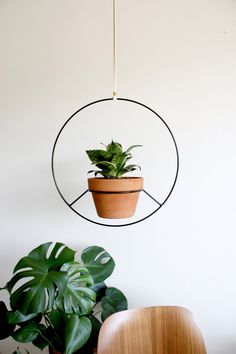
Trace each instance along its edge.
<path fill-rule="evenodd" d="M 182 307 L 127 310 L 102 325 L 97 354 L 206 354 L 192 313 Z"/>

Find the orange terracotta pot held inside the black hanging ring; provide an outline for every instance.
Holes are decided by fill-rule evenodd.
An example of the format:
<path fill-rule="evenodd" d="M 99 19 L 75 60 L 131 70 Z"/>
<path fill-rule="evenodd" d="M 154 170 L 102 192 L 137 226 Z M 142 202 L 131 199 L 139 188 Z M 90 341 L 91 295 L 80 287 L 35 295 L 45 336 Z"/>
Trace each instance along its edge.
<path fill-rule="evenodd" d="M 88 178 L 88 189 L 92 192 L 98 216 L 130 218 L 135 213 L 139 193 L 143 189 L 143 178 Z"/>

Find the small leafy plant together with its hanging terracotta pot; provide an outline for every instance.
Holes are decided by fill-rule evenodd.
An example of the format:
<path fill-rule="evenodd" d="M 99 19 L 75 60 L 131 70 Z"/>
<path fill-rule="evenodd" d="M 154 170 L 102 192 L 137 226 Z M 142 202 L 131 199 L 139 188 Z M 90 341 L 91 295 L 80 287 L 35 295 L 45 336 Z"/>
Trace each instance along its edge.
<path fill-rule="evenodd" d="M 132 145 L 123 151 L 122 145 L 112 140 L 104 146 L 105 149 L 86 150 L 92 165 L 98 168 L 88 172 L 95 174 L 95 178 L 88 178 L 88 189 L 92 192 L 98 216 L 129 218 L 135 213 L 143 178 L 124 175 L 140 169 L 138 165 L 129 165 L 128 161 L 132 158 L 131 150 L 141 145 Z M 96 177 L 99 174 L 102 177 Z"/>

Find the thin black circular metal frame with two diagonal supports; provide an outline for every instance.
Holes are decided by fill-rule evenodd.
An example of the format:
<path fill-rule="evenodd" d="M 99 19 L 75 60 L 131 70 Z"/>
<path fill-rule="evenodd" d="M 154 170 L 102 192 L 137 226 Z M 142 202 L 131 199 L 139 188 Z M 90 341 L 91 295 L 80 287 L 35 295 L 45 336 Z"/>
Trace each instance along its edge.
<path fill-rule="evenodd" d="M 101 102 L 106 102 L 106 101 L 112 101 L 113 98 L 103 98 L 103 99 L 100 99 L 100 100 L 97 100 L 97 101 L 93 101 L 91 103 L 88 103 L 87 105 L 83 106 L 82 108 L 78 109 L 74 114 L 72 114 L 72 116 L 67 119 L 67 121 L 63 124 L 63 126 L 61 127 L 59 133 L 57 134 L 57 137 L 55 139 L 55 142 L 54 142 L 54 145 L 53 145 L 53 149 L 52 149 L 52 156 L 51 156 L 51 168 L 52 168 L 52 176 L 53 176 L 53 180 L 54 180 L 54 183 L 55 183 L 55 186 L 57 188 L 57 191 L 58 193 L 60 194 L 61 198 L 64 200 L 64 202 L 69 206 L 69 208 L 71 210 L 73 210 L 77 215 L 79 215 L 80 217 L 82 217 L 83 219 L 87 220 L 87 221 L 90 221 L 94 224 L 97 224 L 97 225 L 101 225 L 101 226 L 110 226 L 110 227 L 122 227 L 122 226 L 129 226 L 129 225 L 134 225 L 134 224 L 137 224 L 141 221 L 144 221 L 146 219 L 148 219 L 150 216 L 152 216 L 153 214 L 155 214 L 165 203 L 166 201 L 169 199 L 171 193 L 173 192 L 173 189 L 175 187 L 175 184 L 176 184 L 176 181 L 177 181 L 177 177 L 178 177 L 178 173 L 179 173 L 179 152 L 178 152 L 178 148 L 177 148 L 177 144 L 176 144 L 176 141 L 175 141 L 175 138 L 174 138 L 174 135 L 172 133 L 172 131 L 170 130 L 169 126 L 167 125 L 167 123 L 164 121 L 164 119 L 158 114 L 156 113 L 153 109 L 151 109 L 150 107 L 146 106 L 145 104 L 143 103 L 140 103 L 138 101 L 134 101 L 134 100 L 131 100 L 131 99 L 128 99 L 128 98 L 117 98 L 118 101 L 126 101 L 126 102 L 130 102 L 130 103 L 134 103 L 136 105 L 139 105 L 139 106 L 142 106 L 144 108 L 146 108 L 147 110 L 149 110 L 150 112 L 152 112 L 156 117 L 158 117 L 162 123 L 165 125 L 165 127 L 168 129 L 170 135 L 171 135 L 171 138 L 173 140 L 173 143 L 174 143 L 174 146 L 175 146 L 175 152 L 176 152 L 176 173 L 175 173 L 175 178 L 174 178 L 174 182 L 172 184 L 172 187 L 170 189 L 170 192 L 168 193 L 166 199 L 164 200 L 163 203 L 159 203 L 155 198 L 152 197 L 152 195 L 150 195 L 147 191 L 143 190 L 151 199 L 153 199 L 157 204 L 158 204 L 158 208 L 156 208 L 152 213 L 150 213 L 149 215 L 145 216 L 144 218 L 142 219 L 139 219 L 139 220 L 136 220 L 136 221 L 133 221 L 133 222 L 130 222 L 130 223 L 125 223 L 125 224 L 113 224 L 113 225 L 110 225 L 110 224 L 105 224 L 105 223 L 102 223 L 102 222 L 97 222 L 97 221 L 94 221 L 94 220 L 91 220 L 89 218 L 87 218 L 86 216 L 80 214 L 78 211 L 76 211 L 75 209 L 72 208 L 72 204 L 69 204 L 65 197 L 63 196 L 59 186 L 58 186 L 58 183 L 57 183 L 57 180 L 56 180 L 56 175 L 55 175 L 55 168 L 54 168 L 54 154 L 55 154 L 55 149 L 56 149 L 56 145 L 57 145 L 57 142 L 58 142 L 58 139 L 63 131 L 63 129 L 66 127 L 66 125 L 70 122 L 70 120 L 76 115 L 78 114 L 79 112 L 83 111 L 84 109 L 86 109 L 87 107 L 89 106 L 92 106 L 92 105 L 95 105 L 95 104 L 98 104 L 98 103 L 101 103 Z M 85 193 L 87 193 L 88 190 L 86 190 L 79 198 L 81 198 Z M 77 198 L 76 201 L 79 199 Z"/>

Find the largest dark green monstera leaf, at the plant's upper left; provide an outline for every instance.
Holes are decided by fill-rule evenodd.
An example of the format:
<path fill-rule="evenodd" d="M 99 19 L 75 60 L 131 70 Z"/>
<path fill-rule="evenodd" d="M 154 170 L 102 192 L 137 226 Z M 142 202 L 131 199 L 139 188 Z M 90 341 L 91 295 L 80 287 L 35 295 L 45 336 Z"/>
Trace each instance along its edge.
<path fill-rule="evenodd" d="M 62 296 L 65 291 L 68 274 L 59 269 L 64 263 L 74 260 L 75 251 L 62 243 L 56 243 L 49 249 L 51 244 L 42 244 L 23 257 L 6 286 L 11 293 L 12 308 L 23 315 L 51 309 L 55 297 Z M 23 284 L 22 280 L 25 280 Z"/>

